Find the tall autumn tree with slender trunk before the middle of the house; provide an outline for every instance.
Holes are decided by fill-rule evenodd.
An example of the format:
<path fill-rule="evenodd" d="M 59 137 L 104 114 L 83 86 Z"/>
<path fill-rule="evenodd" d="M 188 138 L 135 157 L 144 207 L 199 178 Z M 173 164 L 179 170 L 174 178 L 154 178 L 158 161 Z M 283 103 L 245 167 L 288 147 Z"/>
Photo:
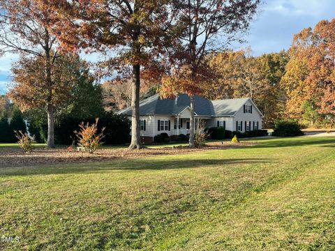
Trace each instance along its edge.
<path fill-rule="evenodd" d="M 174 52 L 172 77 L 165 79 L 163 96 L 188 93 L 191 100 L 190 147 L 194 147 L 194 95 L 202 93 L 201 85 L 209 81 L 207 55 L 221 50 L 232 40 L 239 40 L 256 13 L 259 0 L 188 0 L 174 6 L 181 15 L 180 46 Z M 220 39 L 218 39 L 220 38 Z"/>

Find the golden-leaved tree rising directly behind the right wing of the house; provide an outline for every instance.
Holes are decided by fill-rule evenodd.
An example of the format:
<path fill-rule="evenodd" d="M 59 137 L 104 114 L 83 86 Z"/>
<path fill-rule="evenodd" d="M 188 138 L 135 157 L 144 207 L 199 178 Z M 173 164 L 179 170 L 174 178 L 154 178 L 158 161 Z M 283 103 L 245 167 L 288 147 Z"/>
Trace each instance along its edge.
<path fill-rule="evenodd" d="M 271 127 L 285 108 L 281 77 L 287 62 L 285 52 L 252 56 L 250 48 L 211 54 L 209 67 L 218 77 L 204 86 L 204 96 L 252 98 L 265 115 L 265 126 Z"/>

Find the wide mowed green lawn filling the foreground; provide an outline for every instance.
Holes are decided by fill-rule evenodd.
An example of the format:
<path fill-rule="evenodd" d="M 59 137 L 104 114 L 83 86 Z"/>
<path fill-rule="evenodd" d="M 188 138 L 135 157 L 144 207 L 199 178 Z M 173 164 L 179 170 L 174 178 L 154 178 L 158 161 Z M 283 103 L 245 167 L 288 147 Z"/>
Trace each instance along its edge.
<path fill-rule="evenodd" d="M 0 188 L 0 250 L 335 250 L 334 137 L 2 168 Z"/>

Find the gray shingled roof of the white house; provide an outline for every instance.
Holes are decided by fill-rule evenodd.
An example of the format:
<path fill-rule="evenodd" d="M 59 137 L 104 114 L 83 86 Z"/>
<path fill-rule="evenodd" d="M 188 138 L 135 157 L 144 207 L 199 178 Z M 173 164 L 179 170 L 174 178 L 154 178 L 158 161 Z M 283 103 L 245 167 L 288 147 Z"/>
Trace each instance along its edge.
<path fill-rule="evenodd" d="M 248 98 L 234 98 L 212 101 L 195 96 L 195 114 L 200 116 L 233 116 L 247 100 Z M 161 99 L 159 94 L 156 94 L 140 102 L 140 115 L 177 115 L 189 106 L 190 98 L 187 94 L 179 94 L 174 100 Z M 131 107 L 123 109 L 119 113 L 131 116 Z"/>

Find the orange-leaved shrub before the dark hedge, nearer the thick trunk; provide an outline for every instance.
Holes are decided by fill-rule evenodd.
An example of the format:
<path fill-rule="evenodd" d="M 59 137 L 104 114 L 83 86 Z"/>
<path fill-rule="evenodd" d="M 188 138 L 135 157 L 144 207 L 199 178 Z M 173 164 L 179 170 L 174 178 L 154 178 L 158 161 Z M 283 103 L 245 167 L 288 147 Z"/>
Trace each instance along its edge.
<path fill-rule="evenodd" d="M 105 128 L 101 130 L 101 132 L 97 135 L 98 132 L 98 120 L 96 119 L 96 123 L 89 126 L 89 123 L 84 124 L 84 122 L 80 123 L 80 131 L 74 131 L 75 135 L 78 138 L 78 146 L 83 149 L 84 151 L 88 151 L 89 153 L 94 153 L 96 149 L 98 149 L 103 142 L 103 131 Z"/>

